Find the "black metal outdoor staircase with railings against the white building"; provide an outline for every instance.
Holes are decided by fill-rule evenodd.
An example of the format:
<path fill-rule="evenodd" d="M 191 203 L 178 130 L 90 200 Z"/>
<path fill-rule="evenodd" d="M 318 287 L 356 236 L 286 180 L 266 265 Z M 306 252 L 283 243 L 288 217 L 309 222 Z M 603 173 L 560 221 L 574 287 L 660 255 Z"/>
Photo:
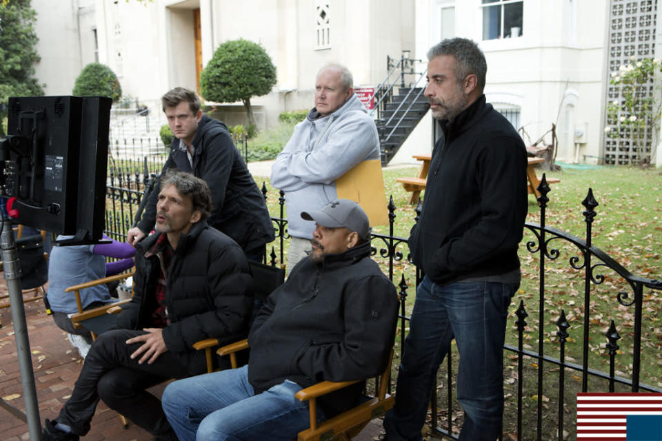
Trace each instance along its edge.
<path fill-rule="evenodd" d="M 393 158 L 430 108 L 423 96 L 427 72 L 414 72 L 414 62 L 420 60 L 410 59 L 408 54 L 403 51 L 399 60 L 387 56 L 388 74 L 374 91 L 372 115 L 376 113 L 383 165 Z"/>

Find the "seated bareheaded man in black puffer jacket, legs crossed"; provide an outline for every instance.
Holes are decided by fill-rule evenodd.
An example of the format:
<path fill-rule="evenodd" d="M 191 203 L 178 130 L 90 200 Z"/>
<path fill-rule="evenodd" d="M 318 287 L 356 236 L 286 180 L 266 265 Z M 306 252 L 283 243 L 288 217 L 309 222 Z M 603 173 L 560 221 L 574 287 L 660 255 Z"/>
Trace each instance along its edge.
<path fill-rule="evenodd" d="M 208 227 L 207 184 L 188 173 L 166 174 L 158 199 L 158 233 L 137 247 L 134 296 L 118 329 L 92 344 L 71 398 L 57 420 L 46 420 L 44 440 L 85 435 L 99 398 L 155 439 L 176 440 L 159 399 L 145 389 L 203 373 L 205 354 L 195 342 L 229 343 L 248 331 L 248 260 L 234 240 Z"/>

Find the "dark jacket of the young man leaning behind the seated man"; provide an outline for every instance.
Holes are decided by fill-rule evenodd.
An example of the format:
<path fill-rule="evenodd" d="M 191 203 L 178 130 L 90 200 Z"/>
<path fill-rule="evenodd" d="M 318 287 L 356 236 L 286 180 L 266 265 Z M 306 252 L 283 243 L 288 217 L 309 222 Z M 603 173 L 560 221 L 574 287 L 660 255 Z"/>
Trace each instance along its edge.
<path fill-rule="evenodd" d="M 203 116 L 192 141 L 193 167 L 179 139 L 173 138 L 170 156 L 161 174 L 169 169 L 189 172 L 202 178 L 212 191 L 209 225 L 227 234 L 248 251 L 274 240 L 274 227 L 262 193 L 253 181 L 243 158 L 234 147 L 225 124 Z M 149 233 L 157 213 L 159 185 L 154 187 L 138 227 Z"/>

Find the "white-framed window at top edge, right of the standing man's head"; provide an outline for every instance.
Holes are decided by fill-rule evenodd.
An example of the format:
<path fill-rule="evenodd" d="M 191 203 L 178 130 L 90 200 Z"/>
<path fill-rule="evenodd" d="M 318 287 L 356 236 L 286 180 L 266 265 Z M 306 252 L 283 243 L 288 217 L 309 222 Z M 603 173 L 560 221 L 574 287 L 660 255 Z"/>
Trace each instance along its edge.
<path fill-rule="evenodd" d="M 482 0 L 483 40 L 521 37 L 523 0 Z"/>

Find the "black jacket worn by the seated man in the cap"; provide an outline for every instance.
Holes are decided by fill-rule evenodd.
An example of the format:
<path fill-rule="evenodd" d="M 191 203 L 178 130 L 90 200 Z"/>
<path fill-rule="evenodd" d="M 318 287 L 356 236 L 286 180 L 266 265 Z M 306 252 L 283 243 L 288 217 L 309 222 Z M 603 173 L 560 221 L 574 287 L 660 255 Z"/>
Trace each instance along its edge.
<path fill-rule="evenodd" d="M 248 336 L 248 380 L 261 393 L 285 380 L 362 380 L 383 372 L 393 345 L 397 291 L 370 244 L 314 263 L 305 258 L 267 298 Z M 330 417 L 357 404 L 363 382 L 319 400 Z"/>

